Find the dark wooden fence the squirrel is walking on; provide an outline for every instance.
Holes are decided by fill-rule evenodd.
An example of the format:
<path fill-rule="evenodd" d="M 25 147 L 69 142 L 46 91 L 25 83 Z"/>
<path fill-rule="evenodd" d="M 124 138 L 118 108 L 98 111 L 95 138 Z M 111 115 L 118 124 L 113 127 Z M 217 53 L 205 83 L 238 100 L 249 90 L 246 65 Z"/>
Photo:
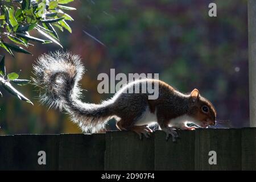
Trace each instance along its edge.
<path fill-rule="evenodd" d="M 178 133 L 0 136 L 0 170 L 256 170 L 256 128 Z"/>

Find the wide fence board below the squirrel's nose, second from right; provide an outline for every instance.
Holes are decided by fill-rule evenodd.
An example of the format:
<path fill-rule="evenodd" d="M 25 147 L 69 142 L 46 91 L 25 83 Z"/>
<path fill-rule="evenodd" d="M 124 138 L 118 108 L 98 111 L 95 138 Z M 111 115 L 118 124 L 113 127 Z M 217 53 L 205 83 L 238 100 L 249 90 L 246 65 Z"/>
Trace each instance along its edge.
<path fill-rule="evenodd" d="M 198 129 L 195 138 L 196 170 L 241 170 L 240 129 Z M 216 151 L 216 165 L 209 164 L 209 151 Z"/>

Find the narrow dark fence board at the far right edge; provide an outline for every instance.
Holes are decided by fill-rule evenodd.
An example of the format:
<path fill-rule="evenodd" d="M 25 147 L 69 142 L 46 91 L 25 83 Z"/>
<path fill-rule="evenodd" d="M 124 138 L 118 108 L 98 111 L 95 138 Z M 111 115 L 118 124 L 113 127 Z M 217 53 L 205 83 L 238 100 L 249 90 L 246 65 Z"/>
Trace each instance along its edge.
<path fill-rule="evenodd" d="M 242 129 L 242 170 L 256 170 L 256 127 Z"/>

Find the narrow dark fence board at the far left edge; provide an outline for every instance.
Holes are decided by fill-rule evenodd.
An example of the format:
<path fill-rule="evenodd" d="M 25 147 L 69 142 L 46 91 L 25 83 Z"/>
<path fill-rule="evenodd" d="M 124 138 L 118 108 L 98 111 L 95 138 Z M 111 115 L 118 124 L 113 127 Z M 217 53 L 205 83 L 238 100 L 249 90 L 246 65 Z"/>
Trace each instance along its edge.
<path fill-rule="evenodd" d="M 0 136 L 0 170 L 13 170 L 14 135 Z"/>

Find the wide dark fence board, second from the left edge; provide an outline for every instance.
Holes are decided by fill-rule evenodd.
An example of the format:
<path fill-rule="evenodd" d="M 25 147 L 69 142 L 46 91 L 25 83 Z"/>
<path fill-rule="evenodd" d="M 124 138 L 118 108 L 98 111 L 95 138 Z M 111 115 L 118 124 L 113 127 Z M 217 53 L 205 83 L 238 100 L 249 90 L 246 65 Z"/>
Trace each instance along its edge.
<path fill-rule="evenodd" d="M 59 135 L 14 135 L 14 139 L 14 169 L 58 169 Z M 39 151 L 46 152 L 46 165 L 39 165 Z"/>

